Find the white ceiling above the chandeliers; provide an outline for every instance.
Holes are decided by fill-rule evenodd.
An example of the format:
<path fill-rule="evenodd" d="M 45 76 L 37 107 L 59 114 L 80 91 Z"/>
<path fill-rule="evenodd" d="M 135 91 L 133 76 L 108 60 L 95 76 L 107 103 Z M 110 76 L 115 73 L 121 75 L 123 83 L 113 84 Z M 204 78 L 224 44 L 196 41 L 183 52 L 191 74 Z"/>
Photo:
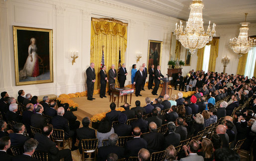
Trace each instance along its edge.
<path fill-rule="evenodd" d="M 113 0 L 117 3 L 150 10 L 166 16 L 187 20 L 192 0 Z M 239 24 L 247 21 L 256 23 L 256 0 L 203 0 L 203 19 L 207 24 Z"/>

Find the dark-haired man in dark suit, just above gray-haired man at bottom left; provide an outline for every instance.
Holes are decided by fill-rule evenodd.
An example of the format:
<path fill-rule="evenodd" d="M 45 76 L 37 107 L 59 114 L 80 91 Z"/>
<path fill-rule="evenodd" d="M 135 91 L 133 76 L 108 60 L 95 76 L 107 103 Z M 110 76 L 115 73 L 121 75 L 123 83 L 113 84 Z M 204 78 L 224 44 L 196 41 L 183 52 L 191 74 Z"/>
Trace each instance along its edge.
<path fill-rule="evenodd" d="M 29 139 L 28 136 L 23 135 L 25 126 L 22 123 L 16 123 L 13 126 L 13 132 L 10 133 L 10 142 L 12 146 L 23 147 L 24 143 Z"/>

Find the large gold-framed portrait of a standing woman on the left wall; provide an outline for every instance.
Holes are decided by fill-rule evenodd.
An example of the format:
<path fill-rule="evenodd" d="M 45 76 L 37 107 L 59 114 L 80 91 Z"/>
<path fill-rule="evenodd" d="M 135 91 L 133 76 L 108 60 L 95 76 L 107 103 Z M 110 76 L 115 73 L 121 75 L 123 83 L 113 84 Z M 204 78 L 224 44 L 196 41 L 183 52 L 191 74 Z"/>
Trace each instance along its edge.
<path fill-rule="evenodd" d="M 12 26 L 15 84 L 53 82 L 52 29 Z"/>

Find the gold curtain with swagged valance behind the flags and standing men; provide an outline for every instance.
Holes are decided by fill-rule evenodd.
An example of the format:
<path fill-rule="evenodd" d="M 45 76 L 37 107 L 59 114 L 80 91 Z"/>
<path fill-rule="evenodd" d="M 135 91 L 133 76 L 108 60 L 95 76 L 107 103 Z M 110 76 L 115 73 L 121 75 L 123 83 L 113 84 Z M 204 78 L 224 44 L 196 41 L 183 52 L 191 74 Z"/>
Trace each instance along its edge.
<path fill-rule="evenodd" d="M 102 60 L 102 46 L 104 46 L 105 65 L 107 72 L 115 64 L 118 70 L 119 50 L 121 63 L 125 62 L 127 48 L 127 23 L 113 18 L 92 18 L 91 22 L 91 62 L 95 64 L 96 82 L 94 89 L 100 88 L 100 70 Z"/>

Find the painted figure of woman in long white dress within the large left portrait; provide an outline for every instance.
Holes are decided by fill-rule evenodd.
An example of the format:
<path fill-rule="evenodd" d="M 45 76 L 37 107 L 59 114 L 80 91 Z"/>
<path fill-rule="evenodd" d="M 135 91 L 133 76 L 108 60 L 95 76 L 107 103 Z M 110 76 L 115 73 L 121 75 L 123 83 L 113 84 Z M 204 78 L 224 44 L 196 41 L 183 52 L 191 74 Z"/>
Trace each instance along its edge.
<path fill-rule="evenodd" d="M 36 39 L 30 39 L 30 45 L 28 47 L 28 57 L 24 68 L 19 71 L 19 79 L 26 79 L 27 77 L 37 77 L 39 76 L 39 64 L 38 55 L 36 53 Z"/>

